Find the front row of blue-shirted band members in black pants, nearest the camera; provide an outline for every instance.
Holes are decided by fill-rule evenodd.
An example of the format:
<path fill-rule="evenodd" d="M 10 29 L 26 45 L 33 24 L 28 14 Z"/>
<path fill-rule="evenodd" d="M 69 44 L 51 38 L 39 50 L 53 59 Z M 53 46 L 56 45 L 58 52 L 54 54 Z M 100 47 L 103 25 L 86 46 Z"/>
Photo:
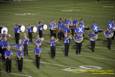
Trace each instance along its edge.
<path fill-rule="evenodd" d="M 95 51 L 95 42 L 98 38 L 98 33 L 100 32 L 100 29 L 96 30 L 97 28 L 94 28 L 95 30 L 92 30 L 92 32 L 89 33 L 89 39 L 90 39 L 90 49 L 92 52 Z M 82 42 L 84 39 L 84 30 L 82 27 L 79 27 L 75 29 L 75 34 L 74 34 L 74 41 L 76 43 L 76 54 L 80 54 L 81 52 L 81 47 L 82 47 Z M 104 31 L 104 35 L 107 38 L 108 44 L 107 47 L 108 49 L 111 49 L 111 43 L 112 43 L 112 38 L 114 37 L 114 30 L 113 27 L 107 27 L 107 30 Z M 17 35 L 15 35 L 17 36 Z M 11 56 L 12 56 L 12 51 L 10 50 L 10 46 L 7 41 L 7 37 L 0 37 L 0 51 L 2 53 L 2 60 L 5 61 L 5 66 L 6 66 L 6 71 L 11 72 Z M 32 37 L 31 37 L 32 38 Z M 17 38 L 15 38 L 17 40 Z M 19 39 L 19 38 L 18 38 Z M 31 40 L 31 39 L 30 39 Z M 30 41 L 27 36 L 25 35 L 23 41 L 16 42 L 16 56 L 17 56 L 17 64 L 18 64 L 18 70 L 21 72 L 23 68 L 23 58 L 24 55 L 28 55 L 28 43 Z M 51 35 L 50 39 L 50 51 L 51 51 L 51 58 L 55 58 L 56 54 L 56 39 L 55 35 Z M 32 41 L 31 41 L 32 42 Z M 41 44 L 42 40 L 37 37 L 35 43 L 35 60 L 36 60 L 36 66 L 39 68 L 40 66 L 40 53 L 41 53 Z M 69 45 L 70 45 L 70 37 L 68 35 L 68 32 L 64 32 L 64 55 L 68 56 L 69 52 Z"/>

